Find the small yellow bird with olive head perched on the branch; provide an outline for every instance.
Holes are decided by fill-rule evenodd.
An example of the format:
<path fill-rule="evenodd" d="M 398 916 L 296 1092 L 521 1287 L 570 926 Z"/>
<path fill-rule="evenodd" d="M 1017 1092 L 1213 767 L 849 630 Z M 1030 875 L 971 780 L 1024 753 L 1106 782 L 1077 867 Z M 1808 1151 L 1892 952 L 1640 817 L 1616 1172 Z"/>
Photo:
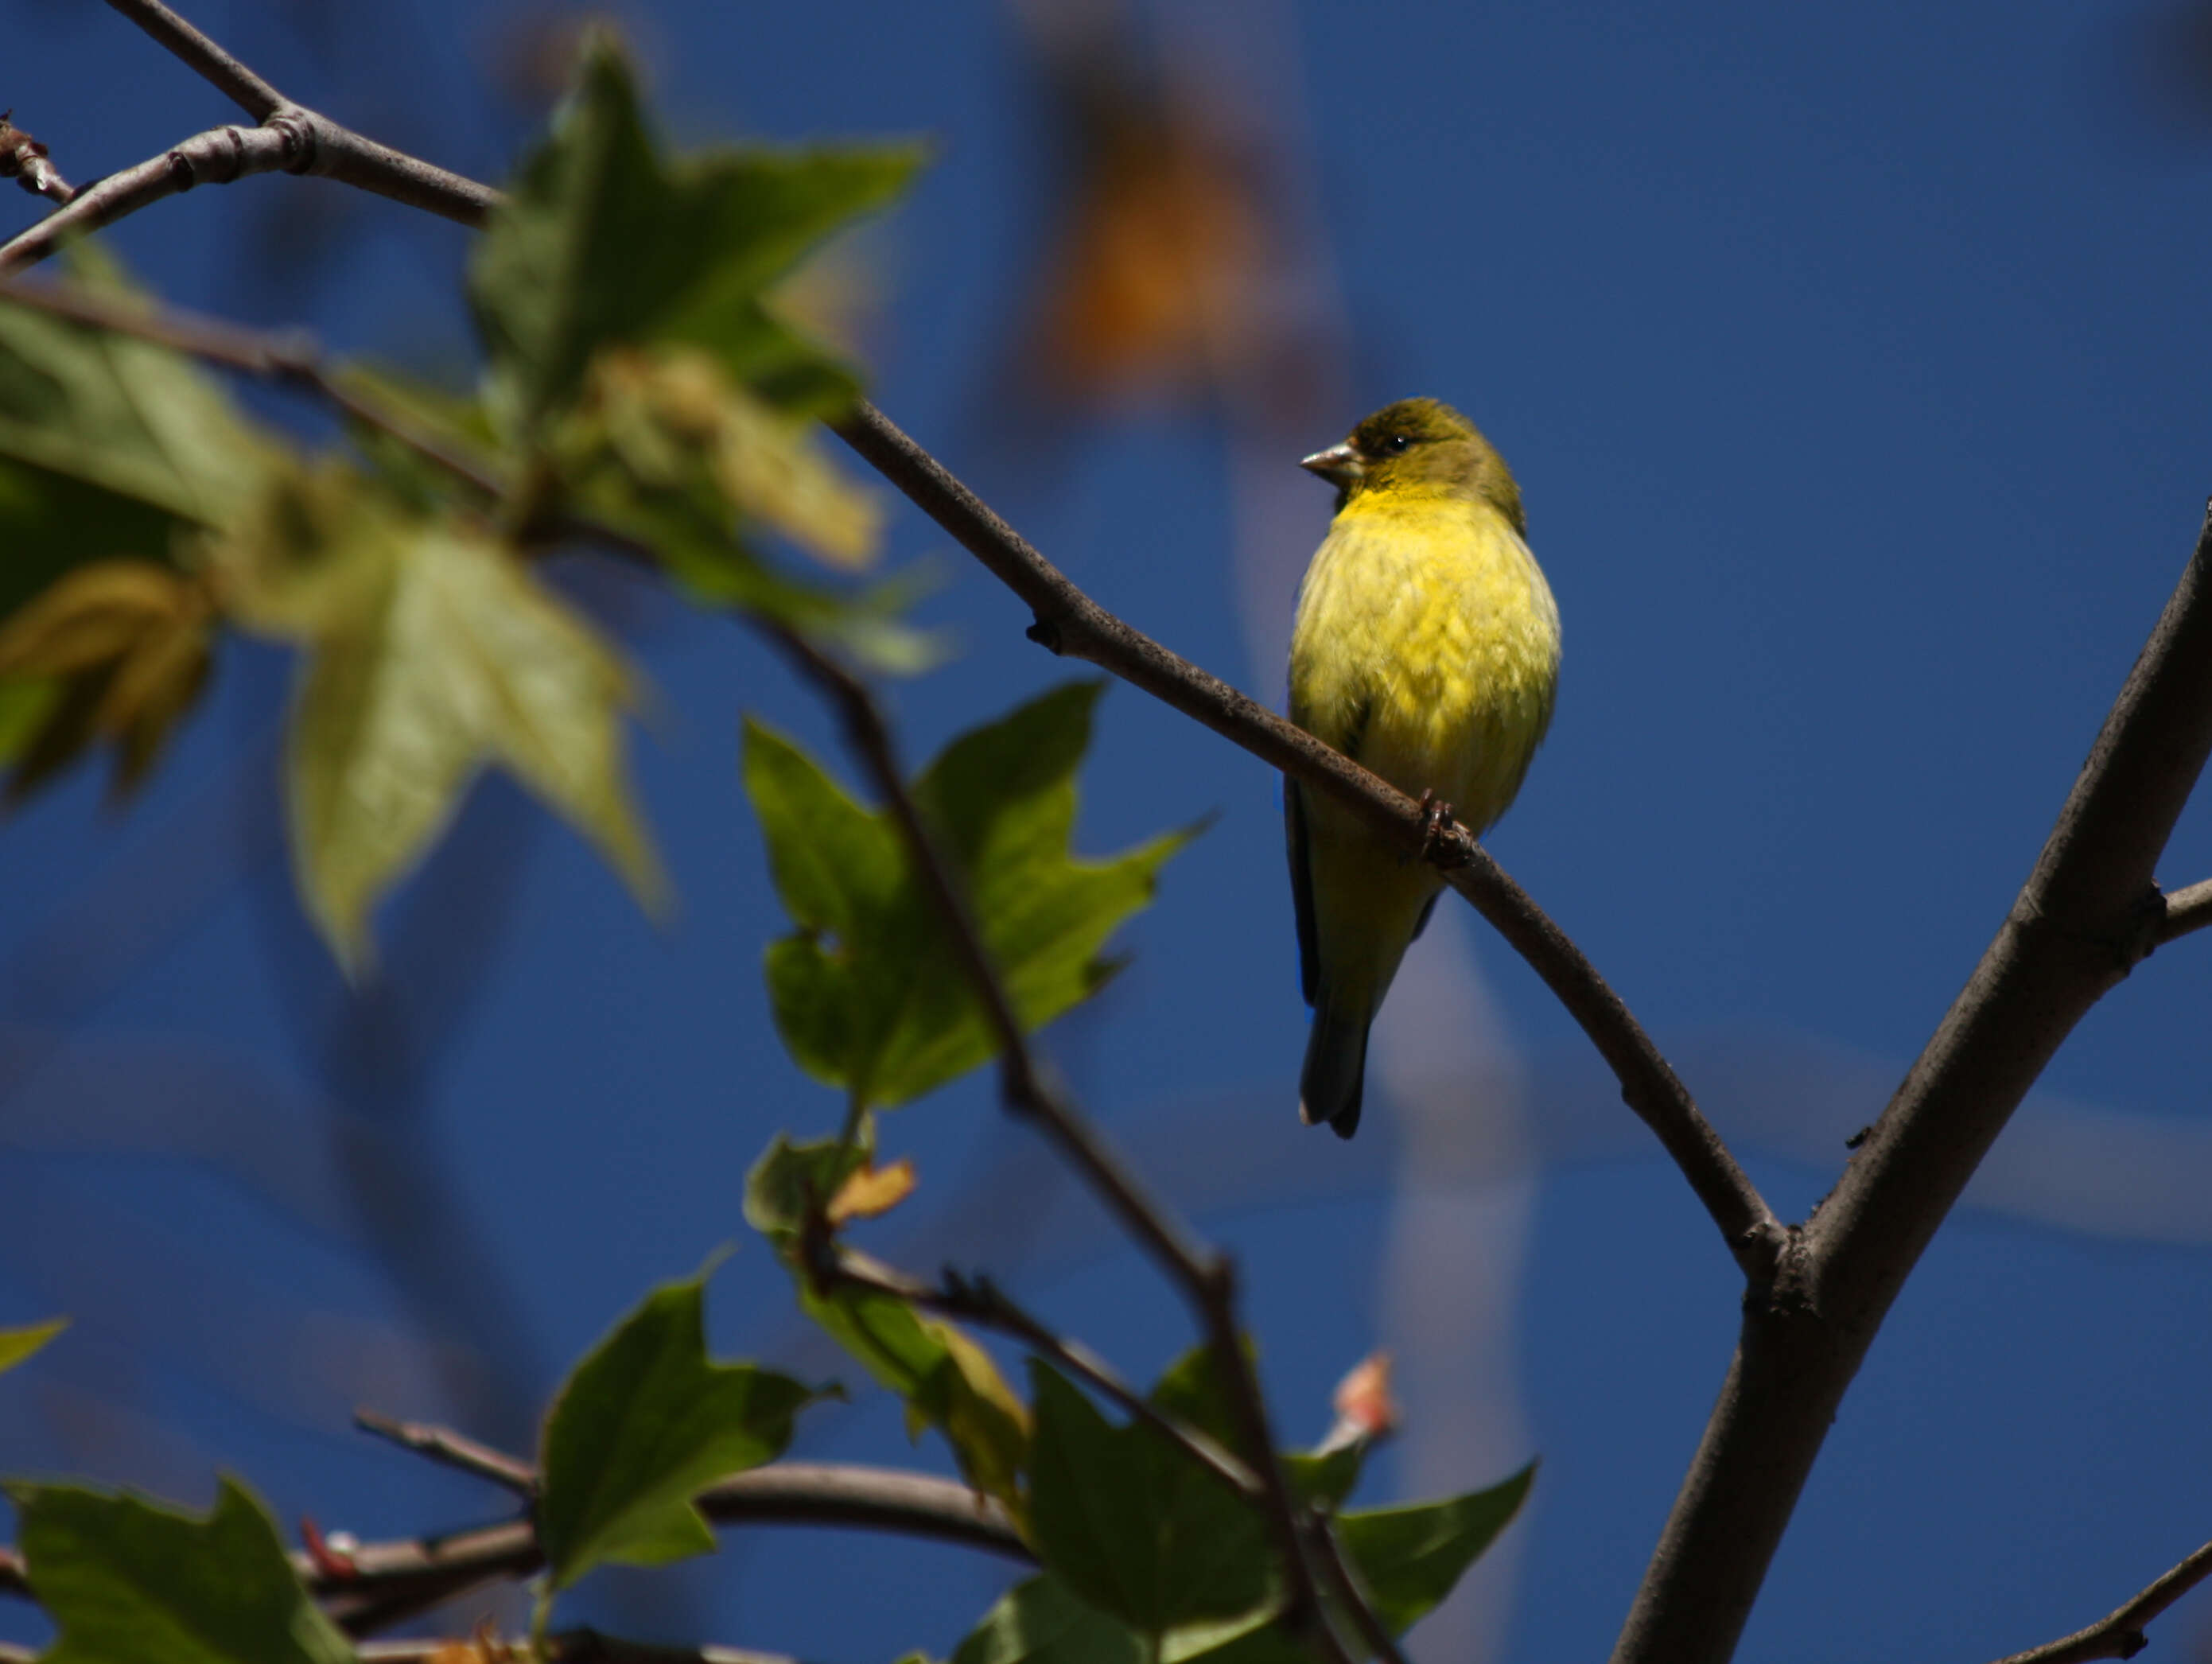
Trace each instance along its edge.
<path fill-rule="evenodd" d="M 1559 684 L 1559 609 L 1522 542 L 1520 487 L 1433 398 L 1378 409 L 1301 467 L 1336 487 L 1336 520 L 1298 586 L 1290 719 L 1480 834 L 1520 790 Z M 1367 1025 L 1444 881 L 1296 781 L 1283 819 L 1314 1007 L 1298 1115 L 1352 1137 Z"/>

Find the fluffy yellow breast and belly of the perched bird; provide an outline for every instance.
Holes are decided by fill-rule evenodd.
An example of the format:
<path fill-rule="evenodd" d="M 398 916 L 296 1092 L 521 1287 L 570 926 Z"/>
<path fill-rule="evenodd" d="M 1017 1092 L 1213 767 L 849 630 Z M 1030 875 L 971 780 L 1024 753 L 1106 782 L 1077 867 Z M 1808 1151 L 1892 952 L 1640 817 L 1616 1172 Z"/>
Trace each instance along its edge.
<path fill-rule="evenodd" d="M 1559 609 L 1513 524 L 1455 496 L 1363 496 L 1298 591 L 1290 715 L 1475 832 L 1551 724 Z"/>

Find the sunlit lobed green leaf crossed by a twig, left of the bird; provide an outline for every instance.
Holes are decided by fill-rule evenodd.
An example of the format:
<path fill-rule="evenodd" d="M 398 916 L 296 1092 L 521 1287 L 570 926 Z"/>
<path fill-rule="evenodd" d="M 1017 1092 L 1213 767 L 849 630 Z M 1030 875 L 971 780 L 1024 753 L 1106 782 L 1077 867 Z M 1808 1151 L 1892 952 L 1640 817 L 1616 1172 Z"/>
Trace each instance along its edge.
<path fill-rule="evenodd" d="M 1055 688 L 956 739 L 914 786 L 1026 1029 L 1113 976 L 1108 936 L 1194 834 L 1106 861 L 1068 854 L 1097 695 L 1095 682 Z M 987 1062 L 991 1029 L 889 812 L 860 808 L 799 746 L 752 721 L 745 790 L 799 925 L 768 949 L 768 991 L 801 1069 L 896 1106 Z"/>

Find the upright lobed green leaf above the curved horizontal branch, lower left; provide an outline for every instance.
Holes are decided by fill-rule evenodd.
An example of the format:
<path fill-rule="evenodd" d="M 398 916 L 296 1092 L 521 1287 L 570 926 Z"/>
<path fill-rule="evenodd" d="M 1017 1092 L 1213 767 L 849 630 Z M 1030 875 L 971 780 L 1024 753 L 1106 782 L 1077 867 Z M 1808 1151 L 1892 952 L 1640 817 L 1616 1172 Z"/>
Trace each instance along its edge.
<path fill-rule="evenodd" d="M 555 1589 L 606 1562 L 708 1553 L 714 1533 L 692 1498 L 781 1456 L 792 1416 L 818 1396 L 772 1370 L 708 1361 L 701 1288 L 653 1290 L 553 1401 L 538 1540 Z"/>

